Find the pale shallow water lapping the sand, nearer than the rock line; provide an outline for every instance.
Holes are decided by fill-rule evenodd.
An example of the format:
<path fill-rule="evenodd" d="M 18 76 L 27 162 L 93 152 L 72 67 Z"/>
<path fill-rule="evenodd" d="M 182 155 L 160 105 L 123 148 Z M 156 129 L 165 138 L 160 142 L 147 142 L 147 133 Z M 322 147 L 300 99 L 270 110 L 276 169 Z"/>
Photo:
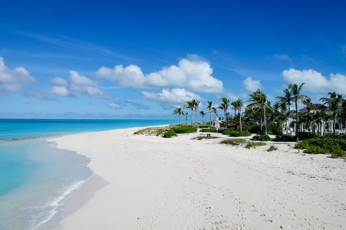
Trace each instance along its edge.
<path fill-rule="evenodd" d="M 89 158 L 42 139 L 0 142 L 0 229 L 54 229 L 64 201 L 92 171 Z"/>

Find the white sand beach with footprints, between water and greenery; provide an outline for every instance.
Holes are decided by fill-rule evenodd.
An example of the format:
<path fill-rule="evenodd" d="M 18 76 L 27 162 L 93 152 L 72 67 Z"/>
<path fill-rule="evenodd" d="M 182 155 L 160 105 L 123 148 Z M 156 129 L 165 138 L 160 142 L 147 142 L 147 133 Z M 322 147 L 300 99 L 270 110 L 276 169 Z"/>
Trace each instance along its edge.
<path fill-rule="evenodd" d="M 94 171 L 59 230 L 346 229 L 345 159 L 137 129 L 50 139 L 90 157 Z"/>

